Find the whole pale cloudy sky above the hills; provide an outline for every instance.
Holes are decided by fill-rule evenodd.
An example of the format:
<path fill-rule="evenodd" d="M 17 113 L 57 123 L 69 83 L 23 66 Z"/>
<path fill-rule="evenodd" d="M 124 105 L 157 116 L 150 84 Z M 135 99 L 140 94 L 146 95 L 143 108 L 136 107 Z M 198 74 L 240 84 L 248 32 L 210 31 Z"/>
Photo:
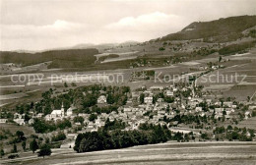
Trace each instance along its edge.
<path fill-rule="evenodd" d="M 256 0 L 0 0 L 0 50 L 147 41 L 193 22 L 256 15 Z"/>

